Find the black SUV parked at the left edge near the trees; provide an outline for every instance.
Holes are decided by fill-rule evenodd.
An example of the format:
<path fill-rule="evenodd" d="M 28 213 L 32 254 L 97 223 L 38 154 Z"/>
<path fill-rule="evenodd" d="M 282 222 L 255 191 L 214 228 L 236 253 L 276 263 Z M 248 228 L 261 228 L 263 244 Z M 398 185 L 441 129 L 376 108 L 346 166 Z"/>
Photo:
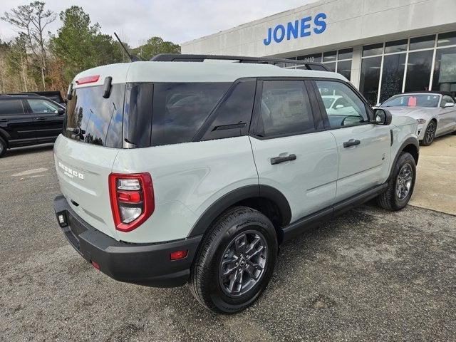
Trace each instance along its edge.
<path fill-rule="evenodd" d="M 7 148 L 53 142 L 65 108 L 39 95 L 0 95 L 0 157 Z"/>

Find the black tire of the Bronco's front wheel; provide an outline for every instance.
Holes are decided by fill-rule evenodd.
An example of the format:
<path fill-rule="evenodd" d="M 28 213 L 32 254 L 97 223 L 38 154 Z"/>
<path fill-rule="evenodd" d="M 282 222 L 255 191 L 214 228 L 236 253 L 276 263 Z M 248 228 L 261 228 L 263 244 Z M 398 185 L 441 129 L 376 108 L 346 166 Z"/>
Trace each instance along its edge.
<path fill-rule="evenodd" d="M 398 177 L 402 171 L 410 170 L 411 171 L 411 180 L 410 180 L 410 187 L 405 195 L 405 192 L 400 192 L 401 195 L 398 195 L 398 185 L 400 187 L 401 183 L 400 180 L 404 178 Z M 402 174 L 401 174 L 402 175 Z M 415 180 L 416 180 L 416 164 L 415 159 L 413 159 L 412 155 L 408 152 L 400 152 L 398 157 L 398 161 L 394 165 L 393 174 L 388 181 L 388 187 L 385 189 L 381 195 L 377 197 L 377 203 L 383 209 L 388 210 L 400 210 L 403 209 L 408 204 L 410 197 L 413 194 L 413 188 L 415 187 Z M 406 183 L 402 184 L 403 186 Z M 402 189 L 402 188 L 400 188 Z M 403 196 L 405 195 L 405 196 Z"/>

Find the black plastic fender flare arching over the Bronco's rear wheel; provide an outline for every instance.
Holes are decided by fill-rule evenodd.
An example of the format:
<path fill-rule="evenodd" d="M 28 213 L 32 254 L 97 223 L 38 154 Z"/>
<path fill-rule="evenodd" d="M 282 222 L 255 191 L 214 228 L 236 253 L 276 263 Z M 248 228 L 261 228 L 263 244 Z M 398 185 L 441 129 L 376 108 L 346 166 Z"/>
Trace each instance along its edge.
<path fill-rule="evenodd" d="M 199 217 L 197 223 L 193 226 L 187 237 L 195 237 L 204 234 L 209 228 L 209 225 L 214 222 L 214 219 L 217 219 L 217 217 L 226 209 L 243 199 L 255 197 L 263 197 L 276 203 L 281 212 L 281 225 L 285 226 L 286 224 L 289 224 L 291 220 L 291 208 L 284 194 L 269 185 L 247 185 L 228 192 L 212 203 Z"/>

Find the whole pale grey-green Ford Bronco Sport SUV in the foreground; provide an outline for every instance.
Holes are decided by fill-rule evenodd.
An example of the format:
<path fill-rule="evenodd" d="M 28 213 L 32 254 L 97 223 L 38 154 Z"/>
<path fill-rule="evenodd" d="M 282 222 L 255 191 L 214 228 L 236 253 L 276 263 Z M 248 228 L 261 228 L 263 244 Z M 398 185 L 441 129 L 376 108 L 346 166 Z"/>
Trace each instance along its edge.
<path fill-rule="evenodd" d="M 76 76 L 54 147 L 68 242 L 113 279 L 189 284 L 234 313 L 264 291 L 280 244 L 375 197 L 405 207 L 416 120 L 296 63 L 159 55 Z"/>

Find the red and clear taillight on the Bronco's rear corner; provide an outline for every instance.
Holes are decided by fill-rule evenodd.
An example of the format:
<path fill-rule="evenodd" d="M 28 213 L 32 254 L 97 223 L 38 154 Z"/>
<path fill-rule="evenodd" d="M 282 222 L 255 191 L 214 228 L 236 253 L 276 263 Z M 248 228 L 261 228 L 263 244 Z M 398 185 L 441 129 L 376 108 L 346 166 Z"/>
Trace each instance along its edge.
<path fill-rule="evenodd" d="M 154 212 L 154 190 L 148 173 L 111 173 L 109 195 L 115 229 L 120 232 L 131 232 Z"/>

